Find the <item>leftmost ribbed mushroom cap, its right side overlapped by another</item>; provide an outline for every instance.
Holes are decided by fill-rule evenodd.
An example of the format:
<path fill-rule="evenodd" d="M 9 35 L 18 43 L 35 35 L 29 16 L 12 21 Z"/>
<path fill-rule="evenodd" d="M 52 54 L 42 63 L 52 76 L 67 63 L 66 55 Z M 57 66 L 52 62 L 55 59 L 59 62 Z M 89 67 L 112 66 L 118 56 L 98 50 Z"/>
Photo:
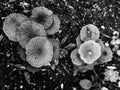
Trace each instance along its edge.
<path fill-rule="evenodd" d="M 20 13 L 12 13 L 8 15 L 3 22 L 3 31 L 6 36 L 12 41 L 17 41 L 16 29 L 26 20 L 28 20 L 28 17 Z"/>

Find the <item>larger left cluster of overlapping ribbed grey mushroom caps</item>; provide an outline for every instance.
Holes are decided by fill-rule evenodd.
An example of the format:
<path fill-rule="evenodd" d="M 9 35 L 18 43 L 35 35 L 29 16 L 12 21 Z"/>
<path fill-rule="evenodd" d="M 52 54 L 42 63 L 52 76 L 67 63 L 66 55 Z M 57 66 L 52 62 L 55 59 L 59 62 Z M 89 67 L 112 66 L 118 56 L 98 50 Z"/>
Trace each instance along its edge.
<path fill-rule="evenodd" d="M 50 65 L 58 58 L 59 41 L 48 35 L 54 35 L 59 28 L 60 19 L 46 7 L 35 7 L 30 17 L 12 13 L 3 22 L 8 39 L 20 44 L 25 60 L 34 68 Z"/>

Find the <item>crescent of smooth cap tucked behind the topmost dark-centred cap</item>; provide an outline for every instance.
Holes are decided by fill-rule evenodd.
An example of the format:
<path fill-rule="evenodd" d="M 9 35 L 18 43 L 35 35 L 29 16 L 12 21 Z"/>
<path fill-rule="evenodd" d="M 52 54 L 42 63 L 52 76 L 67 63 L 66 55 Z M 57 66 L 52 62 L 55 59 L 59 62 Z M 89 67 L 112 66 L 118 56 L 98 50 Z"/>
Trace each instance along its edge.
<path fill-rule="evenodd" d="M 53 17 L 53 22 L 52 22 L 51 26 L 48 29 L 46 29 L 46 33 L 48 35 L 55 34 L 60 29 L 60 19 L 59 19 L 59 17 L 57 15 L 54 15 L 54 14 L 52 14 L 52 17 Z"/>

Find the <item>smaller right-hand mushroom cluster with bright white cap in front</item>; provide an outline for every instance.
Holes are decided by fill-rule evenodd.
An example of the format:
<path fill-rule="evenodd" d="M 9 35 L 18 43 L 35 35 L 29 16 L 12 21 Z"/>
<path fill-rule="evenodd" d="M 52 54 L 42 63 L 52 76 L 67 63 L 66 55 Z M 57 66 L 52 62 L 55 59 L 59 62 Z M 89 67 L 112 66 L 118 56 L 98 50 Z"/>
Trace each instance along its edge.
<path fill-rule="evenodd" d="M 96 64 L 112 60 L 110 47 L 104 45 L 98 28 L 93 24 L 82 27 L 76 44 L 77 48 L 71 52 L 71 60 L 79 69 L 91 69 Z"/>

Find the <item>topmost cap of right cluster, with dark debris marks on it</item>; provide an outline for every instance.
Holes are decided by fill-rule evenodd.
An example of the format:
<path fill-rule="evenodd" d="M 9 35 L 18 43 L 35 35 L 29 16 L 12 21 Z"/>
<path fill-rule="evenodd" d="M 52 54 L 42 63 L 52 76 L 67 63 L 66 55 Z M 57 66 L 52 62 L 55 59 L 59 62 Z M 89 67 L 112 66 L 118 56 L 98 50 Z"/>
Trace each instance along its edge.
<path fill-rule="evenodd" d="M 80 38 L 82 41 L 94 40 L 97 41 L 100 37 L 98 28 L 93 24 L 88 24 L 82 27 Z"/>

